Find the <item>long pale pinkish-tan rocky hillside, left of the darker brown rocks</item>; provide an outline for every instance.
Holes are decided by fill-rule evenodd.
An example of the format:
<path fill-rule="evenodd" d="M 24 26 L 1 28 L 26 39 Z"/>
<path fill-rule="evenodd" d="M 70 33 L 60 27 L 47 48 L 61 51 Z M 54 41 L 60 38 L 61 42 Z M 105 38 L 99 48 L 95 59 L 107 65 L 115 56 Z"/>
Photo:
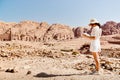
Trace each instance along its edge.
<path fill-rule="evenodd" d="M 48 41 L 73 39 L 69 26 L 49 25 L 47 22 L 21 21 L 19 23 L 0 22 L 0 40 Z"/>

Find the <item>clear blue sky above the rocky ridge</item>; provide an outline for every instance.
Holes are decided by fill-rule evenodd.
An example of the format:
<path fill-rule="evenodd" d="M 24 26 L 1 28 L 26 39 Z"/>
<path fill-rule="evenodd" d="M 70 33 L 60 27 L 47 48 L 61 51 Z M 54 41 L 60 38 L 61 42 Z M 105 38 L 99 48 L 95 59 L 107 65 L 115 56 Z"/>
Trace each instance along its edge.
<path fill-rule="evenodd" d="M 120 22 L 120 0 L 0 0 L 0 21 L 32 20 L 86 26 L 91 18 L 101 24 Z"/>

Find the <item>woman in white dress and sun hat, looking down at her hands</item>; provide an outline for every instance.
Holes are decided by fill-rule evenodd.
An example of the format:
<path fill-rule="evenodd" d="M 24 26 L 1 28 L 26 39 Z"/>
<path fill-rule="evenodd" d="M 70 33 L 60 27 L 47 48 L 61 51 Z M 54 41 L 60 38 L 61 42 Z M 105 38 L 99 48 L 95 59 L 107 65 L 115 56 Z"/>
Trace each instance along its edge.
<path fill-rule="evenodd" d="M 96 63 L 96 71 L 101 73 L 99 53 L 101 52 L 100 37 L 102 30 L 99 28 L 100 23 L 96 19 L 91 19 L 89 26 L 92 28 L 91 35 L 84 33 L 82 36 L 92 40 L 90 44 L 90 52 L 92 52 Z"/>

